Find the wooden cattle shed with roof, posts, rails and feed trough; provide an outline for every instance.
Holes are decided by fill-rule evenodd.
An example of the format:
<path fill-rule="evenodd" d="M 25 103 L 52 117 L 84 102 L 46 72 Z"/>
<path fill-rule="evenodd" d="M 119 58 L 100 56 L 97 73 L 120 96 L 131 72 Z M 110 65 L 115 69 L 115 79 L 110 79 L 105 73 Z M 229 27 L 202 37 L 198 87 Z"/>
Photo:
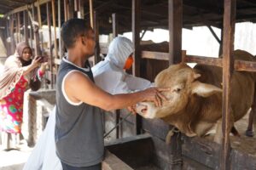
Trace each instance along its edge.
<path fill-rule="evenodd" d="M 168 65 L 180 62 L 195 62 L 223 67 L 223 140 L 216 144 L 208 139 L 189 138 L 173 132 L 171 141 L 166 144 L 166 134 L 174 129 L 162 120 L 147 120 L 141 116 L 129 116 L 112 133 L 106 144 L 108 150 L 104 169 L 256 169 L 254 155 L 238 150 L 230 145 L 228 132 L 230 120 L 230 77 L 233 71 L 256 71 L 256 63 L 234 60 L 234 33 L 236 22 L 256 22 L 256 2 L 254 0 L 1 0 L 0 35 L 7 55 L 14 53 L 15 44 L 29 42 L 35 54 L 49 56 L 49 71 L 43 92 L 28 94 L 27 117 L 35 120 L 35 105 L 49 111 L 55 105 L 55 75 L 65 49 L 61 38 L 57 38 L 61 24 L 71 18 L 84 18 L 90 21 L 95 30 L 96 54 L 91 63 L 101 60 L 107 54 L 106 44 L 99 43 L 99 35 L 132 31 L 135 47 L 132 74 L 154 81 L 154 77 Z M 42 41 L 40 30 L 48 26 L 49 38 Z M 207 26 L 220 44 L 221 58 L 187 55 L 182 50 L 182 28 Z M 211 26 L 221 29 L 219 39 Z M 145 31 L 154 28 L 169 30 L 169 43 L 140 45 Z M 143 32 L 140 36 L 140 32 Z M 48 94 L 49 93 L 49 94 Z M 239 93 L 239 92 L 237 92 Z M 47 95 L 48 94 L 48 95 Z M 46 99 L 45 99 L 46 98 Z M 26 106 L 25 106 L 26 107 Z M 25 113 L 26 114 L 26 113 Z M 30 115 L 31 114 L 31 115 Z M 40 111 L 37 114 L 42 114 Z M 105 116 L 106 131 L 127 116 L 125 111 L 116 111 L 113 116 Z M 37 115 L 38 116 L 38 115 Z M 42 117 L 42 115 L 40 116 Z M 26 118 L 26 117 L 24 117 Z M 29 119 L 29 118 L 28 118 Z M 40 118 L 42 120 L 42 118 Z M 36 121 L 34 121 L 35 123 Z M 38 123 L 38 122 L 37 122 Z M 32 133 L 33 125 L 27 125 L 27 138 L 32 144 L 37 137 Z M 42 127 L 43 128 L 43 127 Z M 251 145 L 255 145 L 255 140 Z"/>

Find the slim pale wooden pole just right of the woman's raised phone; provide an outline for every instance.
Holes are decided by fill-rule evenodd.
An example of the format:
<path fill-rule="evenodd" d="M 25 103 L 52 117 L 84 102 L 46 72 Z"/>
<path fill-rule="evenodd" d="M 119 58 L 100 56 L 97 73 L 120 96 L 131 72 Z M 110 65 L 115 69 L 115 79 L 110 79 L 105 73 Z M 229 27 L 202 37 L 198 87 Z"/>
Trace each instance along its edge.
<path fill-rule="evenodd" d="M 52 56 L 52 42 L 51 42 L 51 20 L 50 20 L 50 3 L 46 4 L 47 12 L 47 25 L 49 28 L 49 71 L 50 71 L 50 88 L 53 88 L 54 75 L 53 75 L 53 56 Z"/>

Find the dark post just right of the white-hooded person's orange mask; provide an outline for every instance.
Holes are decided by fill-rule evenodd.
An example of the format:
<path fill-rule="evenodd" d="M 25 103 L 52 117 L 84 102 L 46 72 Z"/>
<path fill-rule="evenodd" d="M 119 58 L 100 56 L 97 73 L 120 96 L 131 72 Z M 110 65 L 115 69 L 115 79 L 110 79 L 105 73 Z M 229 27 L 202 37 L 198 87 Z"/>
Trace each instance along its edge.
<path fill-rule="evenodd" d="M 141 0 L 132 0 L 131 11 L 132 22 L 132 42 L 134 46 L 134 63 L 132 65 L 132 74 L 140 77 L 140 19 L 141 19 Z M 142 117 L 138 114 L 135 116 L 135 131 L 137 134 L 142 130 Z"/>

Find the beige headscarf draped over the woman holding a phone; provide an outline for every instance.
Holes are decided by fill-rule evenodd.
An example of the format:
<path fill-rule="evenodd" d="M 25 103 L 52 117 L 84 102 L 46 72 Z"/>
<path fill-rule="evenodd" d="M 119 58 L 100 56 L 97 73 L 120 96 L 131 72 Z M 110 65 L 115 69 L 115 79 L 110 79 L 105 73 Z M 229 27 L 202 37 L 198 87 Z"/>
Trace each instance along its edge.
<path fill-rule="evenodd" d="M 26 65 L 21 58 L 23 50 L 30 48 L 26 42 L 20 42 L 16 46 L 15 54 L 9 56 L 3 65 L 3 73 L 0 76 L 0 99 L 11 93 L 20 77 L 23 75 L 22 64 Z M 31 48 L 30 48 L 31 49 Z M 25 63 L 23 63 L 23 61 Z M 31 61 L 30 61 L 31 62 Z"/>

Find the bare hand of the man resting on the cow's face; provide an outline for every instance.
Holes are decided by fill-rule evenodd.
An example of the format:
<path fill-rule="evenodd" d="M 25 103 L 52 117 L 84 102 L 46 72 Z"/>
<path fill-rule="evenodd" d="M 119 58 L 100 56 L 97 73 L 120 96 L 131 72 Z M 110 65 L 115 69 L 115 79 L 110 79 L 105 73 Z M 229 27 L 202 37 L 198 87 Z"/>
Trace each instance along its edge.
<path fill-rule="evenodd" d="M 147 88 L 145 90 L 146 98 L 144 101 L 153 101 L 154 105 L 160 107 L 162 105 L 162 101 L 166 101 L 166 96 L 161 94 L 161 92 L 170 91 L 170 88 Z"/>

